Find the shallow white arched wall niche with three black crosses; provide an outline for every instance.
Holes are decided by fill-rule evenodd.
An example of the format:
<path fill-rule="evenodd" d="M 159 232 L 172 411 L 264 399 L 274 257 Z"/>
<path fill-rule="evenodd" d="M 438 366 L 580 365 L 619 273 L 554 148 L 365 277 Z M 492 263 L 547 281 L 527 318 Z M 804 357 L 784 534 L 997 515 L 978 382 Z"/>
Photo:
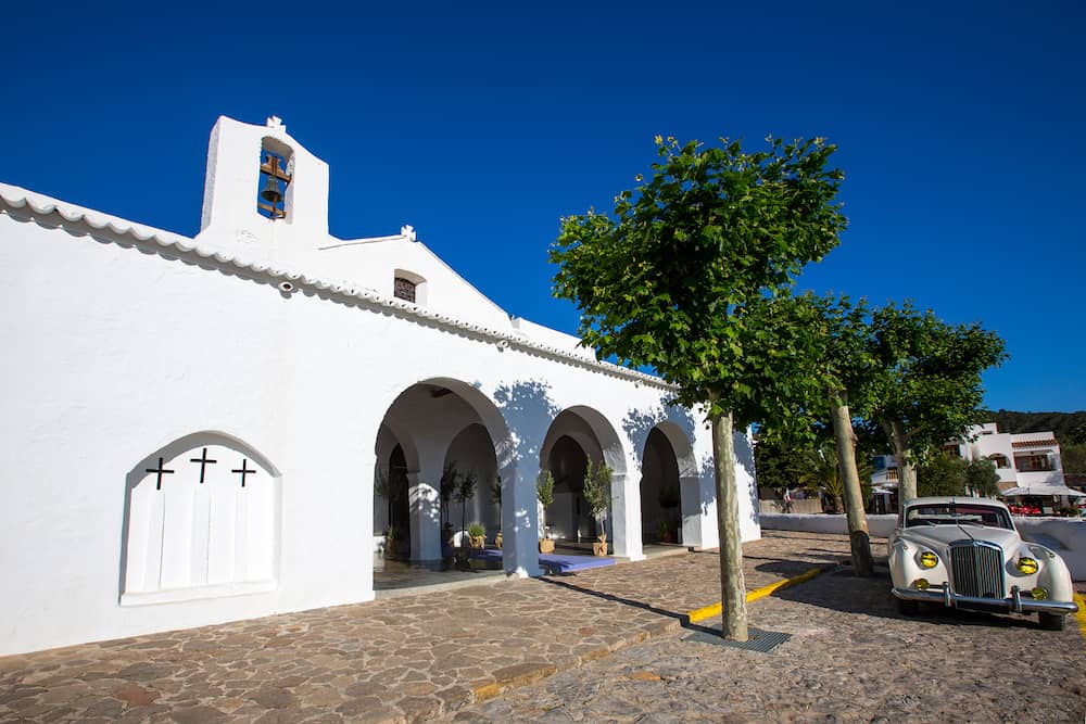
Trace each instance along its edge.
<path fill-rule="evenodd" d="M 125 486 L 121 604 L 274 589 L 281 477 L 261 453 L 199 432 L 152 453 Z"/>

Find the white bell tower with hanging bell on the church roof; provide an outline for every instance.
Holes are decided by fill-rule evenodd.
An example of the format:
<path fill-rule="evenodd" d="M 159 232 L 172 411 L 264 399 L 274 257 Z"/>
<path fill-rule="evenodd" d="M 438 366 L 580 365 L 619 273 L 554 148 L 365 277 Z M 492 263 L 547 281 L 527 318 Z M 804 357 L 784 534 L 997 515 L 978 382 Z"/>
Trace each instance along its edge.
<path fill-rule="evenodd" d="M 328 238 L 328 164 L 287 134 L 220 116 L 207 145 L 197 243 L 250 259 L 302 262 Z"/>

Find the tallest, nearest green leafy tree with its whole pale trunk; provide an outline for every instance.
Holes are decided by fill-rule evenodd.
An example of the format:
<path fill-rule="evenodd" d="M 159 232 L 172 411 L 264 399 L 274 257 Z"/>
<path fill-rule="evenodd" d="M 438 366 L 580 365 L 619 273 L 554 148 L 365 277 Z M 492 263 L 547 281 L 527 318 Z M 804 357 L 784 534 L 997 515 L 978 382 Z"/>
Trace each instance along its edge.
<path fill-rule="evenodd" d="M 746 640 L 746 592 L 732 433 L 787 416 L 781 401 L 810 384 L 805 330 L 774 325 L 773 300 L 837 244 L 843 178 L 822 139 L 743 151 L 656 138 L 651 177 L 614 213 L 561 220 L 555 294 L 573 300 L 579 331 L 602 358 L 652 367 L 678 401 L 706 405 L 720 533 L 721 635 Z"/>

